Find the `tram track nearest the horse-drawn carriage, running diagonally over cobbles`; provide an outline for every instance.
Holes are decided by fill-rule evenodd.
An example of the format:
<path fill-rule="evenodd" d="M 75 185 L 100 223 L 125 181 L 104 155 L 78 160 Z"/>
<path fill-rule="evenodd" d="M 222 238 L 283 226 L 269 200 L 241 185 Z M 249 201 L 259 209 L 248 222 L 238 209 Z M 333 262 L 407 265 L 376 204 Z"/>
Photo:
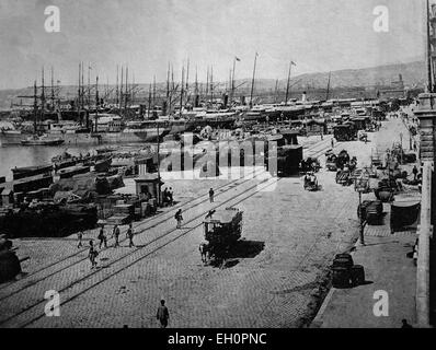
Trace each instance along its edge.
<path fill-rule="evenodd" d="M 272 186 L 273 184 L 276 184 L 276 183 L 279 182 L 279 180 L 280 180 L 280 178 L 273 178 L 273 180 L 271 180 L 271 178 L 269 178 L 269 179 L 264 179 L 264 180 L 261 182 L 261 184 L 255 184 L 255 185 L 253 185 L 253 186 L 250 186 L 250 187 L 246 188 L 245 190 L 239 192 L 239 194 L 236 195 L 236 196 L 231 196 L 229 199 L 227 199 L 227 200 L 220 202 L 218 206 L 215 206 L 215 207 L 211 208 L 211 209 L 218 209 L 218 208 L 221 208 L 221 207 L 223 207 L 223 206 L 228 207 L 229 203 L 231 203 L 230 207 L 234 207 L 234 206 L 237 206 L 238 203 L 240 203 L 240 202 L 246 200 L 248 198 L 254 196 L 255 194 L 257 194 L 259 190 L 260 190 L 260 188 L 259 188 L 260 185 L 266 183 L 266 185 L 264 185 L 264 186 L 262 187 L 262 189 L 264 189 L 264 188 L 267 188 L 267 187 Z M 253 190 L 253 189 L 254 189 L 254 190 Z M 243 197 L 240 198 L 240 199 L 238 199 L 237 201 L 234 201 L 238 197 L 241 197 L 241 196 L 243 196 Z M 234 201 L 234 202 L 232 202 L 232 201 Z M 205 215 L 209 210 L 211 210 L 211 209 L 208 208 L 208 210 L 202 211 L 199 214 L 197 214 L 197 215 L 195 215 L 194 218 L 192 218 L 192 219 L 190 219 L 188 221 L 186 221 L 185 224 L 193 223 L 193 222 L 195 222 L 196 220 L 204 218 L 204 215 Z M 71 302 L 71 301 L 76 300 L 77 298 L 79 298 L 79 296 L 82 295 L 83 293 L 88 292 L 89 290 L 95 288 L 96 285 L 103 283 L 104 281 L 111 279 L 112 277 L 114 277 L 114 276 L 118 275 L 119 272 L 126 270 L 127 268 L 134 266 L 134 265 L 137 264 L 138 261 L 140 261 L 140 260 L 147 258 L 148 256 L 150 256 L 150 255 L 152 255 L 152 254 L 159 252 L 160 249 L 164 248 L 164 247 L 168 246 L 169 244 L 171 244 L 171 243 L 177 241 L 179 238 L 185 236 L 185 235 L 188 234 L 190 232 L 193 232 L 194 230 L 196 230 L 196 229 L 197 229 L 198 226 L 200 226 L 200 225 L 202 225 L 202 221 L 200 221 L 199 223 L 195 224 L 193 228 L 190 228 L 190 229 L 187 229 L 187 230 L 183 230 L 183 229 L 182 229 L 182 232 L 181 232 L 180 234 L 174 235 L 173 237 L 170 237 L 170 235 L 171 235 L 172 233 L 177 233 L 177 232 L 180 232 L 180 230 L 176 230 L 176 229 L 169 230 L 169 231 L 165 232 L 163 235 L 160 235 L 160 236 L 158 236 L 156 240 L 152 240 L 152 242 L 147 243 L 145 246 L 142 246 L 142 247 L 140 247 L 140 248 L 137 248 L 137 249 L 135 249 L 135 250 L 128 253 L 127 255 L 124 255 L 124 256 L 122 256 L 121 258 L 118 258 L 118 259 L 112 261 L 111 264 L 108 264 L 107 267 L 114 267 L 114 266 L 117 265 L 118 262 L 123 262 L 123 260 L 125 260 L 126 258 L 133 257 L 134 254 L 136 254 L 136 253 L 142 253 L 142 252 L 144 252 L 142 249 L 145 249 L 145 248 L 150 248 L 149 252 L 146 252 L 145 254 L 144 254 L 144 253 L 142 253 L 142 254 L 139 254 L 139 256 L 136 257 L 136 258 L 133 257 L 131 261 L 128 261 L 127 264 L 121 264 L 121 266 L 119 266 L 115 271 L 113 271 L 113 272 L 111 272 L 111 273 L 107 273 L 106 276 L 103 276 L 103 278 L 102 278 L 101 280 L 99 280 L 99 281 L 96 281 L 96 282 L 92 282 L 90 285 L 85 287 L 84 289 L 79 290 L 79 291 L 76 292 L 76 293 L 72 293 L 72 295 L 70 295 L 70 296 L 68 296 L 68 298 L 62 296 L 62 299 L 61 299 L 62 302 L 60 303 L 60 305 L 65 305 L 65 304 Z M 162 240 L 163 237 L 168 237 L 169 240 L 167 240 L 164 243 L 159 244 L 159 245 L 158 245 L 157 247 L 154 247 L 154 248 L 150 247 L 150 245 L 151 245 L 152 243 L 154 243 L 154 242 L 157 242 L 157 241 L 160 241 L 160 240 Z M 80 284 L 80 283 L 82 283 L 82 282 L 90 281 L 90 279 L 91 279 L 92 277 L 94 277 L 94 276 L 96 276 L 96 275 L 103 275 L 103 273 L 104 273 L 104 270 L 94 270 L 93 272 L 88 273 L 87 276 L 83 276 L 83 277 L 81 277 L 80 279 L 74 280 L 74 281 L 68 283 L 68 284 L 65 285 L 64 288 L 57 290 L 57 292 L 58 292 L 58 293 L 66 293 L 66 292 L 68 292 L 68 290 L 71 290 L 72 288 L 77 287 L 78 284 Z M 24 307 L 23 310 L 21 310 L 20 312 L 14 313 L 13 315 L 10 315 L 10 316 L 8 316 L 8 317 L 1 319 L 1 320 L 0 320 L 0 326 L 4 326 L 7 323 L 9 323 L 9 322 L 11 322 L 11 320 L 13 320 L 13 319 L 16 319 L 16 318 L 20 317 L 20 316 L 23 316 L 23 314 L 25 314 L 25 313 L 27 313 L 27 312 L 32 312 L 34 308 L 37 308 L 37 307 L 39 306 L 39 307 L 41 307 L 41 313 L 38 313 L 38 315 L 37 315 L 37 316 L 34 316 L 33 318 L 32 318 L 32 317 L 31 317 L 31 318 L 25 318 L 24 322 L 20 323 L 20 327 L 26 327 L 26 326 L 33 324 L 34 322 L 36 322 L 36 320 L 38 320 L 38 319 L 41 319 L 42 317 L 45 316 L 45 313 L 44 313 L 44 305 L 45 305 L 45 303 L 46 303 L 45 300 L 37 300 L 36 302 L 34 302 L 34 303 L 32 303 L 31 305 L 27 305 L 26 307 Z"/>

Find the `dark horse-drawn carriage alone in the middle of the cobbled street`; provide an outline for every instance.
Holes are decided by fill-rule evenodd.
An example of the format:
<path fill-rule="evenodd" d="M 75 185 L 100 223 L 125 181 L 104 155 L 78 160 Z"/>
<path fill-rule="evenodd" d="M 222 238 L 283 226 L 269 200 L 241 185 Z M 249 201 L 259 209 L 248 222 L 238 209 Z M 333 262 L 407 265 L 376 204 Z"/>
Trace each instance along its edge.
<path fill-rule="evenodd" d="M 205 242 L 199 245 L 204 264 L 223 265 L 242 233 L 242 211 L 237 208 L 210 211 L 203 221 Z"/>

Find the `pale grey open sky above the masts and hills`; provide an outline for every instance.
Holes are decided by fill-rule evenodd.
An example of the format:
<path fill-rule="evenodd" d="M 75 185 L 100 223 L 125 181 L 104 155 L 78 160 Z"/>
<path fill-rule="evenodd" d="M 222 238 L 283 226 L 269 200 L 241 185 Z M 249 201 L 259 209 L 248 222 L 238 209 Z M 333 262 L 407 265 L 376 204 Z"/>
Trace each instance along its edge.
<path fill-rule="evenodd" d="M 60 11 L 60 32 L 47 33 L 46 7 Z M 374 30 L 377 5 L 389 31 Z M 77 84 L 80 61 L 92 80 L 115 83 L 116 66 L 148 83 L 175 78 L 190 59 L 190 80 L 292 75 L 424 59 L 425 0 L 0 0 L 0 89 L 30 86 L 42 67 Z M 49 74 L 46 74 L 46 79 Z M 87 79 L 87 78 L 85 78 Z"/>

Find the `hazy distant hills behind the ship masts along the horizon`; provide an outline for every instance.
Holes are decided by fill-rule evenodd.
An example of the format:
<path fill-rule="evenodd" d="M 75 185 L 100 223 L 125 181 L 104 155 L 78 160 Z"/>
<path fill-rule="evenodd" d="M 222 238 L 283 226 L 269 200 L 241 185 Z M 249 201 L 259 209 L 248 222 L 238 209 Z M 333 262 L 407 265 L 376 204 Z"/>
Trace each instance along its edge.
<path fill-rule="evenodd" d="M 425 82 L 425 63 L 423 61 L 413 61 L 409 63 L 394 63 L 388 66 L 379 66 L 363 69 L 345 69 L 337 70 L 331 73 L 331 89 L 339 88 L 374 88 L 374 86 L 389 86 L 392 81 L 399 80 L 399 74 L 402 75 L 405 86 L 422 88 Z M 292 91 L 325 89 L 329 81 L 329 72 L 309 73 L 294 77 L 291 79 Z M 279 80 L 278 89 L 283 92 L 286 89 L 286 79 Z M 242 85 L 241 85 L 242 84 Z M 251 88 L 251 80 L 243 79 L 236 82 L 239 86 L 238 92 L 249 94 Z M 255 81 L 256 93 L 273 92 L 275 90 L 276 81 L 274 79 L 257 79 Z M 225 83 L 219 84 L 223 89 Z M 165 90 L 165 83 L 157 85 L 159 91 Z M 110 86 L 114 89 L 114 86 Z M 145 101 L 148 96 L 149 84 L 138 84 L 140 93 L 138 93 L 138 101 Z M 103 92 L 104 86 L 101 86 Z M 217 89 L 218 90 L 218 89 Z M 61 96 L 73 100 L 77 94 L 77 86 L 61 86 Z M 0 109 L 8 109 L 11 103 L 14 104 L 32 104 L 32 98 L 19 98 L 18 96 L 32 96 L 33 88 L 24 88 L 18 90 L 0 90 Z"/>

